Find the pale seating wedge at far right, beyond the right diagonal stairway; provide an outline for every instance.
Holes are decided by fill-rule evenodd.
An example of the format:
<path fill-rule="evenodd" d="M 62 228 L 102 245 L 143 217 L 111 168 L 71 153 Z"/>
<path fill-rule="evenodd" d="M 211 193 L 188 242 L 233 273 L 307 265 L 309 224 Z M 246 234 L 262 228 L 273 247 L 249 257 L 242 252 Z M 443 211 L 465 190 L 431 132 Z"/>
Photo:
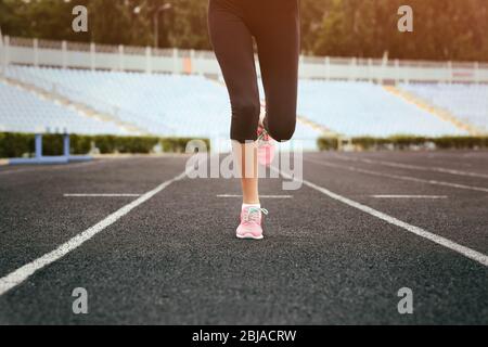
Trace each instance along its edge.
<path fill-rule="evenodd" d="M 411 83 L 401 88 L 488 132 L 487 85 Z"/>

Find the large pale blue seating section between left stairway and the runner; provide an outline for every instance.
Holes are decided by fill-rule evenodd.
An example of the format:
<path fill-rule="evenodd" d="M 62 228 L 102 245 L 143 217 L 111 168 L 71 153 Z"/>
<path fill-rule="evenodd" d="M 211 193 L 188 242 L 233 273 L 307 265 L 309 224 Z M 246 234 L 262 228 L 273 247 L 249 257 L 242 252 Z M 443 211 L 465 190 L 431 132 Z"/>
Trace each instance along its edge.
<path fill-rule="evenodd" d="M 10 66 L 8 76 L 114 115 L 158 136 L 228 138 L 226 89 L 203 76 Z M 320 132 L 301 124 L 295 138 L 316 149 Z"/>

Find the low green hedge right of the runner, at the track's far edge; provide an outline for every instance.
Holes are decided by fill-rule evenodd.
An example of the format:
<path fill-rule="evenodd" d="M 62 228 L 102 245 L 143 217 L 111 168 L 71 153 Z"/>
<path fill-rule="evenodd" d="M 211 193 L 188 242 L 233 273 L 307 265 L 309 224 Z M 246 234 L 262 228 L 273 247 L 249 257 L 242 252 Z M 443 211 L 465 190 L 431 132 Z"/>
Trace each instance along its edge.
<path fill-rule="evenodd" d="M 486 137 L 414 137 L 393 136 L 389 138 L 358 137 L 351 139 L 351 144 L 359 151 L 370 150 L 409 150 L 413 146 L 432 147 L 439 150 L 475 150 L 488 149 L 488 136 Z M 318 146 L 321 151 L 337 150 L 339 141 L 336 138 L 320 138 Z"/>

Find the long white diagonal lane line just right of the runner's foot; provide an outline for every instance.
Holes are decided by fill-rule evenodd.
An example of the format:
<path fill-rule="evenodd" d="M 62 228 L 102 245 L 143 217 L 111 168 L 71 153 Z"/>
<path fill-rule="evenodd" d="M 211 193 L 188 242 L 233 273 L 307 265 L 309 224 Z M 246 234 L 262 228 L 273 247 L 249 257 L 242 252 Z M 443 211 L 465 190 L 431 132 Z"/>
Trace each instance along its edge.
<path fill-rule="evenodd" d="M 277 169 L 275 167 L 271 167 L 271 169 L 277 171 L 277 172 L 279 172 L 282 177 L 284 177 L 286 179 L 298 181 L 297 179 L 295 179 L 291 175 L 287 175 L 287 174 L 281 171 L 280 169 Z M 346 205 L 348 205 L 350 207 L 357 208 L 357 209 L 359 209 L 359 210 L 361 210 L 363 213 L 367 213 L 367 214 L 369 214 L 371 216 L 380 218 L 380 219 L 382 219 L 382 220 L 384 220 L 384 221 L 386 221 L 386 222 L 388 222 L 390 224 L 400 227 L 400 228 L 402 228 L 402 229 L 404 229 L 404 230 L 407 230 L 407 231 L 409 231 L 409 232 L 411 232 L 411 233 L 413 233 L 415 235 L 419 235 L 421 237 L 429 240 L 429 241 L 432 241 L 432 242 L 434 242 L 434 243 L 436 243 L 438 245 L 441 245 L 441 246 L 444 246 L 446 248 L 449 248 L 449 249 L 451 249 L 453 252 L 457 252 L 457 253 L 465 256 L 466 258 L 470 258 L 470 259 L 472 259 L 474 261 L 477 261 L 480 265 L 484 265 L 485 267 L 488 267 L 488 256 L 483 254 L 483 253 L 479 253 L 479 252 L 471 249 L 471 248 L 468 248 L 466 246 L 460 245 L 460 244 L 458 244 L 458 243 L 455 243 L 453 241 L 450 241 L 449 239 L 439 236 L 439 235 L 434 234 L 434 233 L 432 233 L 429 231 L 426 231 L 426 230 L 424 230 L 422 228 L 409 224 L 409 223 L 407 223 L 404 221 L 401 221 L 401 220 L 399 220 L 399 219 L 397 219 L 395 217 L 391 217 L 389 215 L 381 213 L 381 211 L 378 211 L 378 210 L 376 210 L 374 208 L 371 208 L 371 207 L 369 207 L 367 205 L 362 205 L 362 204 L 357 203 L 357 202 L 355 202 L 355 201 L 352 201 L 350 198 L 347 198 L 345 196 L 336 194 L 336 193 L 334 193 L 334 192 L 332 192 L 332 191 L 330 191 L 330 190 L 328 190 L 328 189 L 325 189 L 323 187 L 317 185 L 317 184 L 314 184 L 314 183 L 312 183 L 310 181 L 299 180 L 298 182 L 301 182 L 305 185 L 307 185 L 307 187 L 309 187 L 311 189 L 314 189 L 316 191 L 319 191 L 319 192 L 328 195 L 329 197 L 331 197 L 333 200 L 336 200 L 336 201 L 342 202 L 342 203 L 344 203 L 344 204 L 346 204 Z"/>

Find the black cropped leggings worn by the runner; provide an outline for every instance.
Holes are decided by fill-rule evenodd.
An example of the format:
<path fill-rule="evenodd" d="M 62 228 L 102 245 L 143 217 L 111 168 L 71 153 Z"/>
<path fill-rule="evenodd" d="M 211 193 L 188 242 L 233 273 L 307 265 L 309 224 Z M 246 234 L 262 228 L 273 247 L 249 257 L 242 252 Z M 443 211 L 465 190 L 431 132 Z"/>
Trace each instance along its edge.
<path fill-rule="evenodd" d="M 265 128 L 277 141 L 290 140 L 296 126 L 299 0 L 209 0 L 208 26 L 231 100 L 231 139 L 257 139 L 254 36 L 266 93 Z"/>

